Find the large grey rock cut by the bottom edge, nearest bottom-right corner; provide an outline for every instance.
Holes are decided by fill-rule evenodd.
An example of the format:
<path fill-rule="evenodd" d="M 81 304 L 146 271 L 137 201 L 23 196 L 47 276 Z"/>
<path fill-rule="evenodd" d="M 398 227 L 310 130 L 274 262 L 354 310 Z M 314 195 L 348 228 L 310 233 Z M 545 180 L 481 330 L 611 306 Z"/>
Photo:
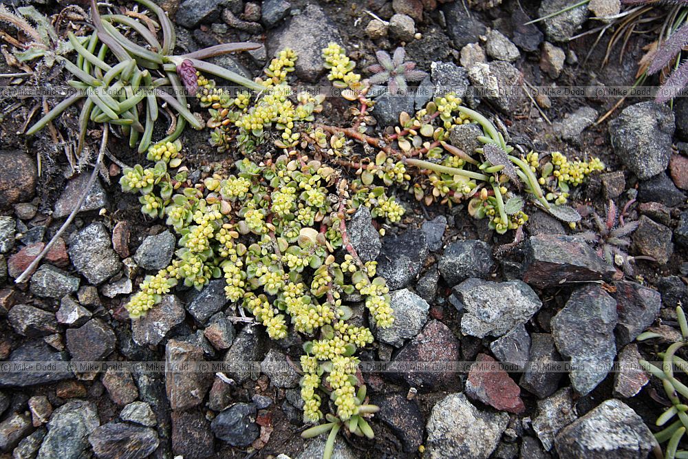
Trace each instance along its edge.
<path fill-rule="evenodd" d="M 656 441 L 643 419 L 622 401 L 604 401 L 555 438 L 560 458 L 647 458 Z"/>

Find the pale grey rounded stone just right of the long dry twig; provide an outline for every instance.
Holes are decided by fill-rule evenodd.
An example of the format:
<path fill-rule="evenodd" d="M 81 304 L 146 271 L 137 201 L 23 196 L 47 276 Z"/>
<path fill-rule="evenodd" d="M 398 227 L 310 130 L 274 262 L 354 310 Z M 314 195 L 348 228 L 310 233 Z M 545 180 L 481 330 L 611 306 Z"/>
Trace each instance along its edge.
<path fill-rule="evenodd" d="M 107 281 L 122 267 L 112 249 L 110 234 L 102 223 L 90 224 L 74 235 L 68 253 L 74 268 L 91 284 Z"/>

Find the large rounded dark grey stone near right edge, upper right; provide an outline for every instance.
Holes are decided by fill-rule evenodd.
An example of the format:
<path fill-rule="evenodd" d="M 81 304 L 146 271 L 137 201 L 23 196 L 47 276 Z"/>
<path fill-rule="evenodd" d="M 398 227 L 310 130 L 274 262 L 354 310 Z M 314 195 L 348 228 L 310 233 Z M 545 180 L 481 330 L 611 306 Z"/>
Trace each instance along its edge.
<path fill-rule="evenodd" d="M 652 101 L 626 107 L 609 124 L 616 156 L 641 180 L 667 169 L 675 128 L 674 112 Z"/>

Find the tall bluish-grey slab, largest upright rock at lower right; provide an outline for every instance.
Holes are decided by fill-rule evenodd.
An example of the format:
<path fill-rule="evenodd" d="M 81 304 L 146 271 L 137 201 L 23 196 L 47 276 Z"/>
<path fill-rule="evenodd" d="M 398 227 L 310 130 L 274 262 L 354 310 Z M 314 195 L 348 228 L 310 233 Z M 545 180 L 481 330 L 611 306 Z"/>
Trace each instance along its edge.
<path fill-rule="evenodd" d="M 571 359 L 571 385 L 581 395 L 601 383 L 614 362 L 617 319 L 616 301 L 598 284 L 575 290 L 552 318 L 552 337 Z"/>

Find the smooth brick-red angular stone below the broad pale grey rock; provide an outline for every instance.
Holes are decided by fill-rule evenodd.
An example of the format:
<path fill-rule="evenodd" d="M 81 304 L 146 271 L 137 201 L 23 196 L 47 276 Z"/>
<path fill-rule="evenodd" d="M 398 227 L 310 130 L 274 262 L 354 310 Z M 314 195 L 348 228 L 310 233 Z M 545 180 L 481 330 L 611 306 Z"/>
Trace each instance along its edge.
<path fill-rule="evenodd" d="M 478 354 L 466 381 L 466 395 L 501 411 L 522 413 L 526 409 L 521 389 L 499 368 L 491 356 Z"/>

